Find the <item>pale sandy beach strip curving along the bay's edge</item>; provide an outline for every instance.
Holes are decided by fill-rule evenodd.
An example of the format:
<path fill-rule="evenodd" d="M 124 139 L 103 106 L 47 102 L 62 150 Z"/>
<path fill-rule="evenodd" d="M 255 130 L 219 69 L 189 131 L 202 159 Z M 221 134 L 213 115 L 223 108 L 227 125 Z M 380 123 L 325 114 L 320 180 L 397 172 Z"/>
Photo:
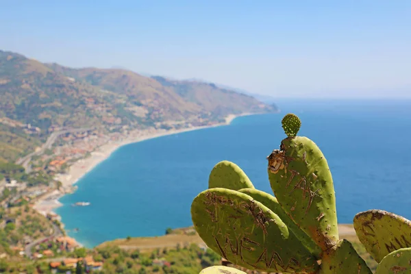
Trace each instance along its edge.
<path fill-rule="evenodd" d="M 110 142 L 108 141 L 105 145 L 98 147 L 95 151 L 93 151 L 90 157 L 78 160 L 74 164 L 69 167 L 69 170 L 65 174 L 59 174 L 55 177 L 60 182 L 62 182 L 62 189 L 54 190 L 53 192 L 45 195 L 41 199 L 38 199 L 34 204 L 33 208 L 37 210 L 40 214 L 47 216 L 47 214 L 53 214 L 58 217 L 59 221 L 61 217 L 55 213 L 57 208 L 63 206 L 63 204 L 59 201 L 64 195 L 70 194 L 70 189 L 77 184 L 79 179 L 82 179 L 84 175 L 92 171 L 98 164 L 103 162 L 104 160 L 108 159 L 114 151 L 123 147 L 124 145 L 129 145 L 136 142 L 142 142 L 144 140 L 149 140 L 153 138 L 158 138 L 162 136 L 169 136 L 173 134 L 180 134 L 183 132 L 191 132 L 198 129 L 206 129 L 211 127 L 220 127 L 224 125 L 229 125 L 232 121 L 240 116 L 251 116 L 257 115 L 261 113 L 243 113 L 243 114 L 229 114 L 225 117 L 225 123 L 216 123 L 214 125 L 205 125 L 201 127 L 186 127 L 184 129 L 146 129 L 145 131 L 138 131 L 138 132 L 131 132 L 128 134 L 127 138 L 121 140 L 120 142 Z M 75 191 L 75 190 L 74 190 Z M 62 223 L 62 222 L 60 222 Z M 64 223 L 62 223 L 62 227 L 64 228 Z"/>

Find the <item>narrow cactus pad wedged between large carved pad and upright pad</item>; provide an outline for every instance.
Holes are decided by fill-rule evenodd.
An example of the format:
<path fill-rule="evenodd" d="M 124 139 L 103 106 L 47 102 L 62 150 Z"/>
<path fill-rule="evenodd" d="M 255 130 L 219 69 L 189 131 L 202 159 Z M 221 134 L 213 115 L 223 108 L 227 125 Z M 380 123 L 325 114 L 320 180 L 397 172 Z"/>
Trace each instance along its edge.
<path fill-rule="evenodd" d="M 307 247 L 312 255 L 314 255 L 315 258 L 319 258 L 321 248 L 315 244 L 315 242 L 312 240 L 312 238 L 310 238 L 310 236 L 306 234 L 306 232 L 303 232 L 299 228 L 299 226 L 290 219 L 290 216 L 286 214 L 284 209 L 279 205 L 277 199 L 273 197 L 273 195 L 269 195 L 269 193 L 252 188 L 243 188 L 238 191 L 251 196 L 253 199 L 259 201 L 264 206 L 269 208 L 272 212 L 277 214 L 279 216 L 279 219 L 282 219 L 282 221 L 287 225 L 288 229 L 290 229 L 292 233 L 294 233 L 295 236 L 297 236 L 297 238 L 301 240 L 302 244 Z"/>

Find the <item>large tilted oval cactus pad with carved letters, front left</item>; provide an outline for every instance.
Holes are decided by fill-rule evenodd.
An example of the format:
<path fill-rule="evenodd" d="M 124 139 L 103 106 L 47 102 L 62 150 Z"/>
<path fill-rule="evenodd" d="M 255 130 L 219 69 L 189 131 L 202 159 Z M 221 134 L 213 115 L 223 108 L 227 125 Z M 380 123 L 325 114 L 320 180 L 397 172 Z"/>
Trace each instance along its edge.
<path fill-rule="evenodd" d="M 233 264 L 282 273 L 315 273 L 319 268 L 277 214 L 249 195 L 210 188 L 192 201 L 191 216 L 206 245 Z"/>

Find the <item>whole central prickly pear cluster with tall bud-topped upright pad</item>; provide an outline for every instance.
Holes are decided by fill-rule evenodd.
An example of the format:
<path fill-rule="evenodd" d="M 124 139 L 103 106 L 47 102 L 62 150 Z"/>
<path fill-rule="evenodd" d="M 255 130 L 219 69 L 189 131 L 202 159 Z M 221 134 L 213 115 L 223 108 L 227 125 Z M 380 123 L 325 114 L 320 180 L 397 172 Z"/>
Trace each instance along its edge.
<path fill-rule="evenodd" d="M 253 189 L 236 164 L 223 161 L 209 189 L 192 201 L 191 216 L 210 249 L 247 269 L 280 273 L 371 274 L 346 240 L 338 240 L 332 175 L 312 140 L 297 136 L 287 114 L 287 138 L 268 157 L 275 197 Z"/>

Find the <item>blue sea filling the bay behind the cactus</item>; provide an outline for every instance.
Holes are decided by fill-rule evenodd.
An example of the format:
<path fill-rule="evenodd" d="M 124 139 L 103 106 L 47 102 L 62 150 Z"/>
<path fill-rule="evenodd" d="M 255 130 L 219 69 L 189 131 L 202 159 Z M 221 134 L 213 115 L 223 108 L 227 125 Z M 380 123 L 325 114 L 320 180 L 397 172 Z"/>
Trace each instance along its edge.
<path fill-rule="evenodd" d="M 299 115 L 301 136 L 321 148 L 334 178 L 338 222 L 382 209 L 411 219 L 411 101 L 279 100 L 279 114 L 243 116 L 231 125 L 125 145 L 62 197 L 69 235 L 86 247 L 127 236 L 160 236 L 192 225 L 192 199 L 217 162 L 230 160 L 271 193 L 266 155 L 285 134 L 284 114 Z M 90 201 L 86 207 L 73 207 Z M 79 228 L 79 232 L 72 229 Z"/>

